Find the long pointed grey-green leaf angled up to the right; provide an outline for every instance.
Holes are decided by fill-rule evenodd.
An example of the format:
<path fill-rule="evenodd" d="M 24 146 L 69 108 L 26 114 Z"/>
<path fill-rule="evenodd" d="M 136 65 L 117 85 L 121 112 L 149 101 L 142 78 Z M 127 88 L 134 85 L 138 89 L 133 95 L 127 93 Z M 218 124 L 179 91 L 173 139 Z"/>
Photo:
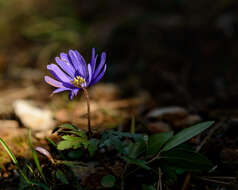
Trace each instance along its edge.
<path fill-rule="evenodd" d="M 196 124 L 192 127 L 183 129 L 182 131 L 180 131 L 178 134 L 176 134 L 175 136 L 173 136 L 166 144 L 165 146 L 162 148 L 162 151 L 168 151 L 182 143 L 184 143 L 185 141 L 193 138 L 194 136 L 198 135 L 199 133 L 203 132 L 204 130 L 206 130 L 208 127 L 210 127 L 212 124 L 214 123 L 214 121 L 207 121 L 207 122 L 202 122 L 199 124 Z"/>

